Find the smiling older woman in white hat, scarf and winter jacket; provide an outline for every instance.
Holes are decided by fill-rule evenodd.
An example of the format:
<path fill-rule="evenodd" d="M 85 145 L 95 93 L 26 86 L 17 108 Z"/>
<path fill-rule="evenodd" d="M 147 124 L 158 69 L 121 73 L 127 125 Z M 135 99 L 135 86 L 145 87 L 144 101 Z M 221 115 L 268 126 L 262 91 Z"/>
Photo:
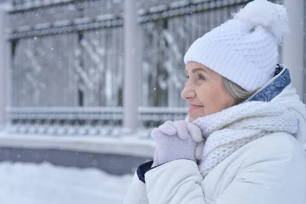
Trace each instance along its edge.
<path fill-rule="evenodd" d="M 306 109 L 277 65 L 282 5 L 247 4 L 185 55 L 186 121 L 152 131 L 124 203 L 306 203 Z"/>

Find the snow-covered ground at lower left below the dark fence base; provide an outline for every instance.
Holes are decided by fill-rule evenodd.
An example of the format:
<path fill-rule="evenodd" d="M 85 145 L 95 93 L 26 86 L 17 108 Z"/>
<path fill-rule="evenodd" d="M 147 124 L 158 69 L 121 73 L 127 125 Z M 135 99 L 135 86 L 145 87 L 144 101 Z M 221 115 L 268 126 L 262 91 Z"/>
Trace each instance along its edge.
<path fill-rule="evenodd" d="M 0 202 L 6 204 L 119 204 L 132 175 L 49 163 L 0 163 Z"/>

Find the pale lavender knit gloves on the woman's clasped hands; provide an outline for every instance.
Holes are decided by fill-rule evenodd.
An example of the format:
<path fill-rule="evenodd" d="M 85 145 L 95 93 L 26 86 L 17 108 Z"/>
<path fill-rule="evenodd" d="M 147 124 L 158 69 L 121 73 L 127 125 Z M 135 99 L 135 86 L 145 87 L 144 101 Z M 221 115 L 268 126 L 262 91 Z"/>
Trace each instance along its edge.
<path fill-rule="evenodd" d="M 151 132 L 157 142 L 152 167 L 178 159 L 197 161 L 203 151 L 201 130 L 186 121 L 167 121 Z"/>

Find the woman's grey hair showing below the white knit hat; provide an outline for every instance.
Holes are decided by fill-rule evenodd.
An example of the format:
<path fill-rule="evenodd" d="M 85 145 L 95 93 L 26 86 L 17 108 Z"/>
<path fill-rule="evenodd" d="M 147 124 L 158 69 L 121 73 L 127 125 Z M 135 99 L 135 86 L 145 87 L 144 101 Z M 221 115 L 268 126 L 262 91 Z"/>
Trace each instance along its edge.
<path fill-rule="evenodd" d="M 234 83 L 233 81 L 226 79 L 223 76 L 222 85 L 225 92 L 233 98 L 234 105 L 242 103 L 257 91 L 253 90 L 252 92 L 247 92 L 244 88 Z"/>

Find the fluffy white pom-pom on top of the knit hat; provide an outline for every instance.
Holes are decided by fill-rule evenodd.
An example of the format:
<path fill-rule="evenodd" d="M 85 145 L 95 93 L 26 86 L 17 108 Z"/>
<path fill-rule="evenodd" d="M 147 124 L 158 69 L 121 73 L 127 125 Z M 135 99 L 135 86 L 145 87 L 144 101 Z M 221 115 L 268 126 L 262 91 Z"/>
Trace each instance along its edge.
<path fill-rule="evenodd" d="M 264 27 L 275 36 L 278 44 L 282 44 L 284 35 L 289 33 L 289 19 L 286 8 L 267 0 L 255 0 L 248 3 L 238 13 L 234 14 L 234 19 L 245 20 L 253 26 Z"/>

